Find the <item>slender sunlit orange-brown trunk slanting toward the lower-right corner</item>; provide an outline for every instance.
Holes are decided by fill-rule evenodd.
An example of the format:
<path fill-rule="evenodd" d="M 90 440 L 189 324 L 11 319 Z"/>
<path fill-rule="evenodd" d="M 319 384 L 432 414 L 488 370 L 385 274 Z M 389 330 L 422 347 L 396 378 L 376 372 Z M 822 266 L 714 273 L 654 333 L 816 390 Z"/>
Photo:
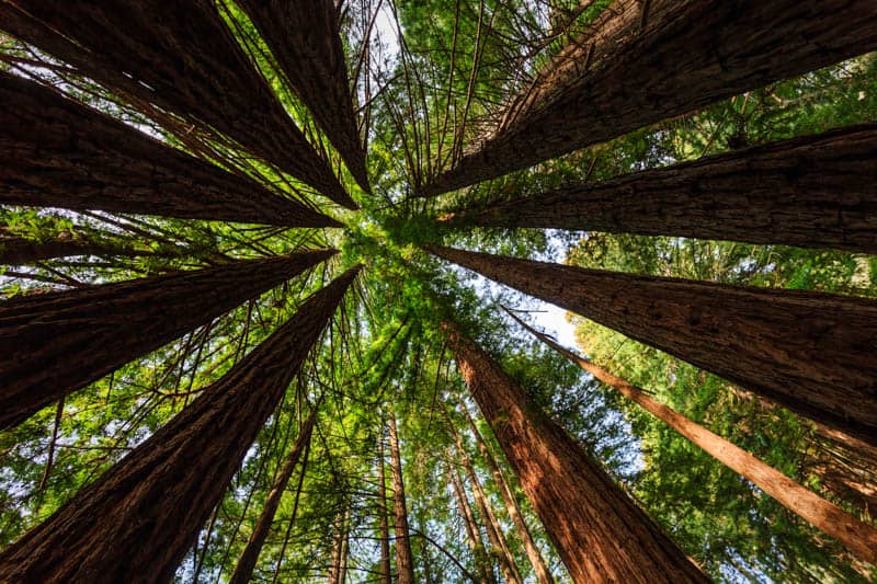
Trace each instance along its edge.
<path fill-rule="evenodd" d="M 506 312 L 543 343 L 593 375 L 606 386 L 615 388 L 622 396 L 667 423 L 693 444 L 703 448 L 709 456 L 751 481 L 784 507 L 817 529 L 821 529 L 836 538 L 859 559 L 877 565 L 877 529 L 853 517 L 838 505 L 808 491 L 742 448 L 650 398 L 642 389 L 628 383 L 625 379 L 612 375 L 606 369 L 561 346 L 548 335 L 526 324 L 511 311 L 506 310 Z"/>

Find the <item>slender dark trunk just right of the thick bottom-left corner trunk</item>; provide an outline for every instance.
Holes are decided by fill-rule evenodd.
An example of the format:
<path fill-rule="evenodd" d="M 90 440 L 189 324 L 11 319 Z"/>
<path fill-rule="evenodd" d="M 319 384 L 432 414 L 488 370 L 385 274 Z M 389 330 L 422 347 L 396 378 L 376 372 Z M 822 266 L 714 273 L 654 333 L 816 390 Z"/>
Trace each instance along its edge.
<path fill-rule="evenodd" d="M 250 535 L 250 540 L 247 542 L 247 547 L 243 548 L 243 553 L 241 553 L 240 560 L 238 560 L 238 565 L 235 568 L 235 572 L 228 581 L 229 584 L 247 584 L 253 575 L 255 562 L 259 559 L 259 553 L 262 551 L 265 539 L 267 539 L 271 524 L 274 523 L 274 515 L 277 513 L 281 497 L 283 497 L 283 493 L 286 491 L 286 484 L 289 482 L 289 478 L 293 476 L 296 465 L 298 465 L 301 453 L 310 443 L 310 436 L 314 432 L 314 422 L 317 420 L 317 408 L 318 406 L 315 406 L 314 410 L 311 410 L 310 415 L 301 425 L 298 438 L 295 440 L 295 446 L 293 446 L 289 456 L 286 458 L 283 468 L 274 481 L 274 485 L 271 488 L 271 492 L 265 501 L 265 506 L 262 508 L 253 533 Z"/>

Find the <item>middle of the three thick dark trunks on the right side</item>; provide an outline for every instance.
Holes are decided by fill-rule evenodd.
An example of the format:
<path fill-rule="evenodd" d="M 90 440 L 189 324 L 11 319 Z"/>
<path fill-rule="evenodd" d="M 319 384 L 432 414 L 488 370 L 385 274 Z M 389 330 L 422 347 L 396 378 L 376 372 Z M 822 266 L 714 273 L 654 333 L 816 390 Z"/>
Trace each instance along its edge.
<path fill-rule="evenodd" d="M 568 186 L 453 220 L 877 253 L 875 183 L 877 125 L 868 124 Z"/>

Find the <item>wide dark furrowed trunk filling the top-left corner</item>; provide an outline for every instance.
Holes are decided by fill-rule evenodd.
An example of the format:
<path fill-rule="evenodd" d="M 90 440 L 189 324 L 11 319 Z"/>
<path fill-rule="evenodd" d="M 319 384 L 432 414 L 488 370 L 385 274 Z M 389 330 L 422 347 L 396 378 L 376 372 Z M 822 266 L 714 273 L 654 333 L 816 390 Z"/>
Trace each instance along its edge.
<path fill-rule="evenodd" d="M 173 10 L 160 0 L 0 0 L 0 28 L 113 91 L 227 136 L 335 203 L 356 207 L 212 0 Z"/>

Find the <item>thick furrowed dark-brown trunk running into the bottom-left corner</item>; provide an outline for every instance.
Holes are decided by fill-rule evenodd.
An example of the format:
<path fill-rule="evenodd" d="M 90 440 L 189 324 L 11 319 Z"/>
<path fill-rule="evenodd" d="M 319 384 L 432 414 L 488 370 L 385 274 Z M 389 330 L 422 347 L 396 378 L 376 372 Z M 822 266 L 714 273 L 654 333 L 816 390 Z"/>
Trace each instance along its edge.
<path fill-rule="evenodd" d="M 355 268 L 38 527 L 0 553 L 3 582 L 170 582 Z"/>

